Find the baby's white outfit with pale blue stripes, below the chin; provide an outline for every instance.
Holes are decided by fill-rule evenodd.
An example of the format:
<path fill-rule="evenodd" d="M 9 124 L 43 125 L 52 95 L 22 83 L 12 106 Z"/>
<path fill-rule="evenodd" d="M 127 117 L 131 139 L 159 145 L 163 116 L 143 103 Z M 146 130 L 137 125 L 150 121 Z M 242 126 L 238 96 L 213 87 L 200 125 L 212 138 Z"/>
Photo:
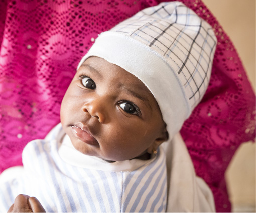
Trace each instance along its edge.
<path fill-rule="evenodd" d="M 47 212 L 165 212 L 167 183 L 162 149 L 153 159 L 136 159 L 132 164 L 85 156 L 80 158 L 81 167 L 75 166 L 75 161 L 68 163 L 74 155 L 79 161 L 74 149 L 63 160 L 65 151 L 59 152 L 63 134 L 58 125 L 45 140 L 31 141 L 25 147 L 24 174 L 0 181 L 1 211 L 7 212 L 18 194 L 27 194 L 37 197 Z"/>

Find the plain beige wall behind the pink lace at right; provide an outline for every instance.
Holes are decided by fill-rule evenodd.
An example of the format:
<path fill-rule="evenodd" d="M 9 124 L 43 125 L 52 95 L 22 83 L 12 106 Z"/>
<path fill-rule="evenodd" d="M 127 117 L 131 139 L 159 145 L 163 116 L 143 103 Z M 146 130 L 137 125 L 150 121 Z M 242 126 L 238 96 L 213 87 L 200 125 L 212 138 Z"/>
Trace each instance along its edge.
<path fill-rule="evenodd" d="M 255 89 L 255 0 L 203 2 L 232 40 Z M 226 179 L 233 211 L 255 212 L 255 144 L 248 142 L 237 150 Z"/>

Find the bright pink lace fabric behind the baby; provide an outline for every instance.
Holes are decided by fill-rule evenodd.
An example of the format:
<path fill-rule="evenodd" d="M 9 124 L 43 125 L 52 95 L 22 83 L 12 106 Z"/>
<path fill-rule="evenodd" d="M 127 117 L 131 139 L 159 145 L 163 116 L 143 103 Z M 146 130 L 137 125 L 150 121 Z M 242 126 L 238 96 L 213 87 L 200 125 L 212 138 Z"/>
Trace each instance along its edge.
<path fill-rule="evenodd" d="M 60 122 L 60 104 L 97 35 L 153 0 L 0 0 L 0 172 L 21 165 L 24 146 Z M 255 95 L 235 48 L 199 0 L 181 1 L 215 30 L 209 88 L 181 130 L 216 210 L 231 210 L 224 172 L 238 146 L 255 138 Z"/>

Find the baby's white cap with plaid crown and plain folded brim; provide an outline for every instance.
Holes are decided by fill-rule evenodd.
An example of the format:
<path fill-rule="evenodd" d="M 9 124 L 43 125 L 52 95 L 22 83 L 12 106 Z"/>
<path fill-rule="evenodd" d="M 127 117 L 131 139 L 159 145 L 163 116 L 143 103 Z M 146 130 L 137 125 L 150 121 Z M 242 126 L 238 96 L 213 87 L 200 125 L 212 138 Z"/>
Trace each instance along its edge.
<path fill-rule="evenodd" d="M 98 56 L 139 78 L 157 100 L 170 140 L 207 89 L 216 41 L 194 11 L 164 2 L 101 33 L 78 68 Z"/>

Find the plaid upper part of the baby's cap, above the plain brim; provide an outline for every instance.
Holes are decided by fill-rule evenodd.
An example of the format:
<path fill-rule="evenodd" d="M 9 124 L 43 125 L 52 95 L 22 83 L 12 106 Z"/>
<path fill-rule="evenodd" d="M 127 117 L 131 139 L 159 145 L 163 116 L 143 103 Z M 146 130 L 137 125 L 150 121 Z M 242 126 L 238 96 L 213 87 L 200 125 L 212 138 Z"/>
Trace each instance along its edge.
<path fill-rule="evenodd" d="M 147 8 L 111 31 L 130 36 L 162 55 L 176 71 L 192 109 L 209 83 L 216 38 L 212 28 L 182 3 Z"/>

